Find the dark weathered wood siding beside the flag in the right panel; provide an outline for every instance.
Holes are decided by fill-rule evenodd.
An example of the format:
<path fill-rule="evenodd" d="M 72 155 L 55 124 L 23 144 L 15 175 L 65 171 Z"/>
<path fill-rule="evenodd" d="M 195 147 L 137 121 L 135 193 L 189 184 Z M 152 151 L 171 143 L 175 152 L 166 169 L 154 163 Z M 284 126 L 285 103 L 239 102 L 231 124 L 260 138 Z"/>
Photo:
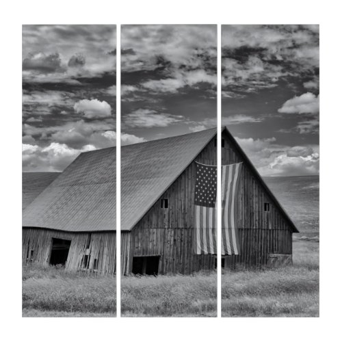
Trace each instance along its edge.
<path fill-rule="evenodd" d="M 222 165 L 243 161 L 234 144 L 222 134 Z M 264 203 L 269 211 L 264 211 Z M 246 163 L 242 164 L 237 192 L 237 226 L 241 254 L 225 257 L 225 267 L 267 265 L 269 254 L 292 254 L 292 233 L 287 220 Z"/>

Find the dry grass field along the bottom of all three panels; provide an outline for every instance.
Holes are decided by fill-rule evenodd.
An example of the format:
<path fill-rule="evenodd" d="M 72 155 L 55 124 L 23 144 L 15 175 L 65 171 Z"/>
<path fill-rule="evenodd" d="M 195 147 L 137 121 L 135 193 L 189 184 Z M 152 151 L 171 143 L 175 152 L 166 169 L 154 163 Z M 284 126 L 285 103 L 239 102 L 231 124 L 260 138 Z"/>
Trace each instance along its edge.
<path fill-rule="evenodd" d="M 222 317 L 317 317 L 319 243 L 293 241 L 293 266 L 222 274 Z M 216 274 L 122 277 L 123 317 L 215 317 Z M 116 279 L 23 267 L 23 317 L 114 317 Z"/>

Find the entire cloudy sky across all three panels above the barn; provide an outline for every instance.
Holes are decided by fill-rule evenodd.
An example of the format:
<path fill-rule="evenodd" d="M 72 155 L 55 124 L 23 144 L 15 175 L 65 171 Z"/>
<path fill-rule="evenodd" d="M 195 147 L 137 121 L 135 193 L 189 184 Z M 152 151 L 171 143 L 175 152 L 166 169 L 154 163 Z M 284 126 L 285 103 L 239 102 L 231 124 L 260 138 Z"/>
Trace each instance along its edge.
<path fill-rule="evenodd" d="M 215 127 L 215 25 L 123 25 L 122 144 Z M 23 170 L 116 140 L 116 27 L 23 26 Z M 264 176 L 319 172 L 319 27 L 222 26 L 222 124 Z"/>

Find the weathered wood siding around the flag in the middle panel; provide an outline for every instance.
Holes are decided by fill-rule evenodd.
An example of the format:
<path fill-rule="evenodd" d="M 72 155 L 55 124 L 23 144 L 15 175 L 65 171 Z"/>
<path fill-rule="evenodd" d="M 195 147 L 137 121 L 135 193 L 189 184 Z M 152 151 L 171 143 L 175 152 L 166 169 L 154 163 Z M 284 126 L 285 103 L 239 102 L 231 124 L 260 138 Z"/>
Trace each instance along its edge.
<path fill-rule="evenodd" d="M 211 140 L 196 161 L 216 165 L 214 144 Z M 124 273 L 131 272 L 133 257 L 154 255 L 160 256 L 159 274 L 189 274 L 215 267 L 215 257 L 193 252 L 195 174 L 195 163 L 192 162 L 161 196 L 168 198 L 168 209 L 161 209 L 158 200 L 128 233 L 131 234 L 131 255 Z"/>

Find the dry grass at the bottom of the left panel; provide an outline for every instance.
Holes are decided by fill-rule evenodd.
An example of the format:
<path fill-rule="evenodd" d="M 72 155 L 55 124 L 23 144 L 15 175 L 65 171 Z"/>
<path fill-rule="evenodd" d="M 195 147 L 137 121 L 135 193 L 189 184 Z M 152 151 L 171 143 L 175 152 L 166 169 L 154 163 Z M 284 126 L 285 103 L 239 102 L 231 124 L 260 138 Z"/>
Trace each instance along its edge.
<path fill-rule="evenodd" d="M 23 317 L 99 316 L 116 316 L 116 278 L 39 264 L 23 267 Z"/>

